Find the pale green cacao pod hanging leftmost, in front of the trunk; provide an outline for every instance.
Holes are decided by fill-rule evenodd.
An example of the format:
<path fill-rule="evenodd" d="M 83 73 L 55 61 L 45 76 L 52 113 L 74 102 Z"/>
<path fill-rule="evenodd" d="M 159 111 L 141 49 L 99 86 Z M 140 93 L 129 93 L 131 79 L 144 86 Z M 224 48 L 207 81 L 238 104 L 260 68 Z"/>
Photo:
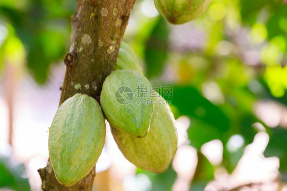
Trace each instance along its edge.
<path fill-rule="evenodd" d="M 75 94 L 58 108 L 49 132 L 49 154 L 60 184 L 72 186 L 92 170 L 105 144 L 105 127 L 100 105 L 85 94 Z"/>

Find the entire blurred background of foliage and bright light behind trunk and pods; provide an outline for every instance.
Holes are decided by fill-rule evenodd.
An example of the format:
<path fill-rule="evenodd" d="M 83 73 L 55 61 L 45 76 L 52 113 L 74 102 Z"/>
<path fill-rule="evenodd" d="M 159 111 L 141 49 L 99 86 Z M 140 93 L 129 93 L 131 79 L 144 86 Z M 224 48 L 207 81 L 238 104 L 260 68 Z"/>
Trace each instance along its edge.
<path fill-rule="evenodd" d="M 173 26 L 152 0 L 137 0 L 124 40 L 152 85 L 173 86 L 178 151 L 165 173 L 136 169 L 107 124 L 93 189 L 286 191 L 284 2 L 212 0 L 198 19 Z M 75 8 L 76 0 L 0 1 L 3 189 L 41 190 Z"/>

